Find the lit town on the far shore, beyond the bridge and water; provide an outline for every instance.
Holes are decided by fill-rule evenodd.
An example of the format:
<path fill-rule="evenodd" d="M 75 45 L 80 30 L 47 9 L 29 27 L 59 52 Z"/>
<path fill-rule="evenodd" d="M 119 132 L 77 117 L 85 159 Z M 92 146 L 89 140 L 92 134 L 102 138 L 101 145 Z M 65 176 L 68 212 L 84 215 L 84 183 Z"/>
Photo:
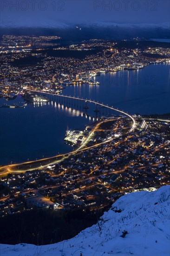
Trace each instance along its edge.
<path fill-rule="evenodd" d="M 139 39 L 96 39 L 65 46 L 58 43 L 59 39 L 58 36 L 2 36 L 0 96 L 24 94 L 28 87 L 59 93 L 66 86 L 76 83 L 98 85 L 94 77 L 101 73 L 138 70 L 153 63 L 170 63 L 170 47 L 156 47 L 150 41 L 143 45 Z M 33 42 L 42 46 L 35 46 Z M 49 42 L 52 46 L 48 45 Z M 47 46 L 44 46 L 45 43 Z"/>

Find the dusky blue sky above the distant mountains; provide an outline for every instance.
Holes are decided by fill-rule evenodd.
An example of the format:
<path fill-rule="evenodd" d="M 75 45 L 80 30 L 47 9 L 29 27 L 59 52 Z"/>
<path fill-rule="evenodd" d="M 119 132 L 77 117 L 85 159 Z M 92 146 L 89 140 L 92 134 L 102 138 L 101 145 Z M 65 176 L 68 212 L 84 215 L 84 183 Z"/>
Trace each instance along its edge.
<path fill-rule="evenodd" d="M 170 22 L 169 0 L 1 0 L 1 26 Z"/>

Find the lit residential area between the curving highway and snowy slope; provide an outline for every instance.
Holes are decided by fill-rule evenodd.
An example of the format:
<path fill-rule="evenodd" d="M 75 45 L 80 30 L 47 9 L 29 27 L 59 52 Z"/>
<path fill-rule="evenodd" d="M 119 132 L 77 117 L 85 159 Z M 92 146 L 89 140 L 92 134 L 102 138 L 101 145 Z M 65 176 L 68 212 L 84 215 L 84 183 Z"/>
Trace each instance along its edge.
<path fill-rule="evenodd" d="M 46 168 L 1 176 L 0 216 L 37 208 L 107 209 L 131 191 L 170 184 L 170 124 L 136 119 L 135 132 L 127 133 L 129 119 L 115 116 L 87 144 L 100 146 Z M 90 133 L 92 125 L 85 130 Z"/>

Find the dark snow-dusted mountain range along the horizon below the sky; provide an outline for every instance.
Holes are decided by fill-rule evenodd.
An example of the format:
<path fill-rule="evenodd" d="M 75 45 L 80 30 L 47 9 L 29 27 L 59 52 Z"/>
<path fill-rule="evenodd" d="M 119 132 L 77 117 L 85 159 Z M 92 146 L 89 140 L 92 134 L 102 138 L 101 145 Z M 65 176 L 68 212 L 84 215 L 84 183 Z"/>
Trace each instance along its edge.
<path fill-rule="evenodd" d="M 95 22 L 81 24 L 67 24 L 48 20 L 0 20 L 2 34 L 16 35 L 58 35 L 63 40 L 81 41 L 89 39 L 122 40 L 134 37 L 139 38 L 170 38 L 170 23 L 114 23 Z"/>

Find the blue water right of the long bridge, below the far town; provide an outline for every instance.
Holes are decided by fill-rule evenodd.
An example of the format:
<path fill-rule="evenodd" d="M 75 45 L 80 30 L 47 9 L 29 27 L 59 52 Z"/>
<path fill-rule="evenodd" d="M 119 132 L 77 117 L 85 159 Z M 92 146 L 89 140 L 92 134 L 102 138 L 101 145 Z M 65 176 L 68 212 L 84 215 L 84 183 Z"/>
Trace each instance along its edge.
<path fill-rule="evenodd" d="M 170 113 L 170 64 L 96 76 L 100 85 L 74 85 L 64 94 L 103 102 L 131 114 Z"/>

